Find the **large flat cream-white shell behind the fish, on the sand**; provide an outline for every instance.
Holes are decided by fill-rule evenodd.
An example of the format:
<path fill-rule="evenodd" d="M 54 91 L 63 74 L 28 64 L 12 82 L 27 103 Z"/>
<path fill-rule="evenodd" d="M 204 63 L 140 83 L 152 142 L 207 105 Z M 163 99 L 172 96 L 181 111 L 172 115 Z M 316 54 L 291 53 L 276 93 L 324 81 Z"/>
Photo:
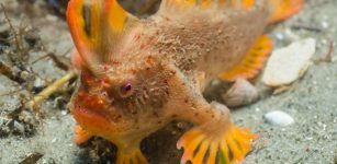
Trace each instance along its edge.
<path fill-rule="evenodd" d="M 287 85 L 294 82 L 307 70 L 316 50 L 316 40 L 307 38 L 277 49 L 269 58 L 262 82 L 269 86 Z"/>

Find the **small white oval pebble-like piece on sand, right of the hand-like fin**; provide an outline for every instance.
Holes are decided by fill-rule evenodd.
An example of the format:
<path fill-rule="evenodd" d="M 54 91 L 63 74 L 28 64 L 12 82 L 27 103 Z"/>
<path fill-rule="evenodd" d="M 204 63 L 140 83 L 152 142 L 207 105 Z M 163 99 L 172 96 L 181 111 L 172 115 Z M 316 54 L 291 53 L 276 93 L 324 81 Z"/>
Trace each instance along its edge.
<path fill-rule="evenodd" d="M 267 121 L 273 126 L 285 127 L 294 124 L 294 119 L 287 113 L 273 110 L 265 115 Z"/>

